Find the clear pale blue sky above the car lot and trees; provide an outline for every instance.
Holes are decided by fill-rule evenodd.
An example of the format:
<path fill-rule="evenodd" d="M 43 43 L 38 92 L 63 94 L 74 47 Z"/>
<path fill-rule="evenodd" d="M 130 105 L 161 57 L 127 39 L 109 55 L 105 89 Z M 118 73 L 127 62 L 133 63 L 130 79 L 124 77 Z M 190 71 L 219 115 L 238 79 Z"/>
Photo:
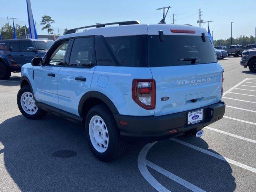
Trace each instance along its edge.
<path fill-rule="evenodd" d="M 170 16 L 176 14 L 176 24 L 198 26 L 196 21 L 201 8 L 204 21 L 214 20 L 210 23 L 211 32 L 215 30 L 214 39 L 230 37 L 230 22 L 235 23 L 233 37 L 240 34 L 255 36 L 256 0 L 31 0 L 31 6 L 37 23 L 41 16 L 49 15 L 56 21 L 52 26 L 61 29 L 125 20 L 157 23 L 162 10 L 156 8 L 163 6 L 172 6 L 166 23 L 170 23 Z M 26 0 L 1 0 L 0 25 L 6 22 L 7 16 L 27 21 Z M 207 29 L 207 23 L 203 27 Z M 42 33 L 46 34 L 38 30 L 38 34 Z"/>

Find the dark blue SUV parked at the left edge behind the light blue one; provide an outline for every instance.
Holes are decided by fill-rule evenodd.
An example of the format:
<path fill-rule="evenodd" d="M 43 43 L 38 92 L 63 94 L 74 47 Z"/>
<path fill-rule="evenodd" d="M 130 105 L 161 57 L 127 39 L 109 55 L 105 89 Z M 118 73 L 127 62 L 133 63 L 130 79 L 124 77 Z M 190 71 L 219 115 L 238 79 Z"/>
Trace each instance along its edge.
<path fill-rule="evenodd" d="M 0 79 L 9 79 L 11 72 L 21 72 L 21 66 L 34 57 L 44 57 L 53 40 L 0 40 Z"/>

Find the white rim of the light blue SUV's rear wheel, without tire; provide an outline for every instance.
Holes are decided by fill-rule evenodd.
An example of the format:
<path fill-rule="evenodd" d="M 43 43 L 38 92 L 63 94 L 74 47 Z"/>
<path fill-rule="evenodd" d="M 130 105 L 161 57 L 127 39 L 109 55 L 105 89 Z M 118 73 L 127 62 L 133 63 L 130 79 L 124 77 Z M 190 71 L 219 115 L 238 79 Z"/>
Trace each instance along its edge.
<path fill-rule="evenodd" d="M 104 120 L 95 115 L 91 118 L 89 123 L 89 135 L 92 146 L 98 152 L 103 153 L 108 148 L 108 128 Z"/>

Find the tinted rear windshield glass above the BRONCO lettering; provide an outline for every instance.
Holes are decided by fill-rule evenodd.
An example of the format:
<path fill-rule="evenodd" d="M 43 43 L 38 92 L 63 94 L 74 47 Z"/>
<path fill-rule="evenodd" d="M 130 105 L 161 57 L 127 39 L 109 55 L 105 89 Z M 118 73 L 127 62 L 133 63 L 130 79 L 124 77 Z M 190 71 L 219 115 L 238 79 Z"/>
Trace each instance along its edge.
<path fill-rule="evenodd" d="M 161 42 L 158 35 L 148 36 L 148 62 L 150 67 L 189 65 L 187 58 L 197 58 L 195 64 L 217 62 L 215 50 L 206 37 L 166 35 Z"/>

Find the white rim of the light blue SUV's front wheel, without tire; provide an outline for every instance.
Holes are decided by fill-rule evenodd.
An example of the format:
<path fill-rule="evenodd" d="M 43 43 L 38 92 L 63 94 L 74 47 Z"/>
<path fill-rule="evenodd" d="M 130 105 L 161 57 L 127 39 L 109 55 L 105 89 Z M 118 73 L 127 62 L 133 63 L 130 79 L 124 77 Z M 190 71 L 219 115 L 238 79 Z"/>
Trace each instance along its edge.
<path fill-rule="evenodd" d="M 29 115 L 36 114 L 38 107 L 35 104 L 35 100 L 33 98 L 32 93 L 24 92 L 20 98 L 20 104 L 24 112 Z"/>

